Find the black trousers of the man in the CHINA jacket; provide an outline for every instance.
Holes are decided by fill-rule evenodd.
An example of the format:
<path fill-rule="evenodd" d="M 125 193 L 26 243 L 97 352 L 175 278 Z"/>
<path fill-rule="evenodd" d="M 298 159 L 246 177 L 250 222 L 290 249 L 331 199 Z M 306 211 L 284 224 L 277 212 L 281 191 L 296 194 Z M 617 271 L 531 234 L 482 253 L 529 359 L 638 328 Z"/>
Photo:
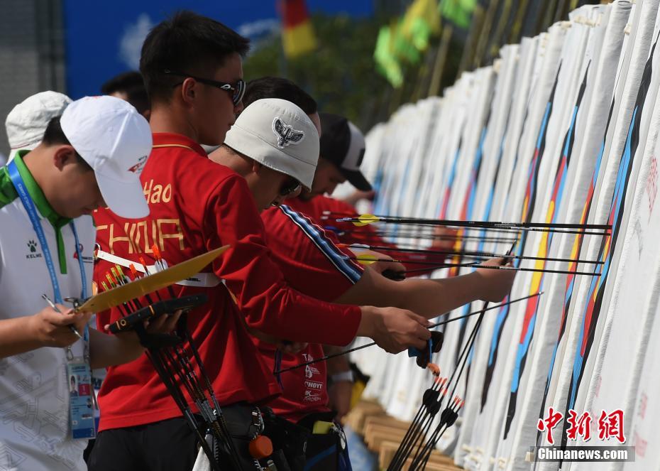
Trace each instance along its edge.
<path fill-rule="evenodd" d="M 182 417 L 102 431 L 89 456 L 89 471 L 189 471 L 196 437 Z"/>

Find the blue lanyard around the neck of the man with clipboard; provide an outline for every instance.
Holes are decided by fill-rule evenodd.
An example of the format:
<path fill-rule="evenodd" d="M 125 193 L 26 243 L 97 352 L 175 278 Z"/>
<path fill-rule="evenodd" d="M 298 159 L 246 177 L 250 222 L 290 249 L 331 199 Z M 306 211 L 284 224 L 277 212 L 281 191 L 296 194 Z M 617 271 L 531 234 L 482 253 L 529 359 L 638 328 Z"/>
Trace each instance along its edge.
<path fill-rule="evenodd" d="M 26 186 L 23 183 L 23 178 L 21 178 L 21 174 L 18 173 L 18 167 L 16 166 L 16 161 L 11 161 L 7 166 L 7 170 L 9 170 L 9 178 L 11 179 L 11 183 L 13 183 L 14 188 L 16 188 L 18 197 L 20 197 L 21 202 L 23 202 L 23 207 L 26 208 L 26 212 L 30 217 L 30 221 L 32 222 L 32 227 L 34 229 L 34 232 L 37 234 L 39 243 L 41 244 L 41 250 L 43 251 L 43 258 L 45 259 L 46 267 L 48 268 L 48 274 L 50 275 L 50 283 L 53 284 L 53 295 L 55 298 L 55 303 L 61 304 L 63 301 L 62 301 L 62 293 L 60 291 L 60 282 L 57 281 L 57 274 L 55 273 L 55 264 L 53 264 L 53 257 L 50 256 L 50 249 L 48 249 L 48 242 L 46 242 L 46 236 L 43 232 L 43 227 L 41 227 L 41 222 L 37 215 L 37 209 L 35 208 L 32 198 L 28 194 L 28 190 L 26 189 Z M 80 252 L 78 233 L 76 231 L 76 227 L 73 221 L 70 222 L 69 225 L 71 227 L 71 231 L 73 232 L 73 237 L 75 238 L 75 242 L 76 242 L 76 254 L 78 258 L 78 265 L 80 268 L 80 280 L 82 282 L 82 299 L 87 299 L 87 275 L 85 274 L 84 264 L 82 261 L 82 253 Z"/>

